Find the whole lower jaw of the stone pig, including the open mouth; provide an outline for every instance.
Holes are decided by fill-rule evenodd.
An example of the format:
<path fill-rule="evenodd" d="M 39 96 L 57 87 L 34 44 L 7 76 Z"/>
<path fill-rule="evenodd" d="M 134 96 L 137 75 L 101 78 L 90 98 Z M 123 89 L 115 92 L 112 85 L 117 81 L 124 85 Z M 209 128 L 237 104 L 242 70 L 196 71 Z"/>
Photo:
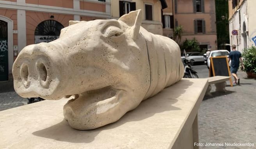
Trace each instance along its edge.
<path fill-rule="evenodd" d="M 118 87 L 117 87 L 118 88 Z M 72 128 L 89 130 L 116 122 L 142 101 L 141 90 L 108 86 L 77 95 L 64 105 L 64 117 Z"/>

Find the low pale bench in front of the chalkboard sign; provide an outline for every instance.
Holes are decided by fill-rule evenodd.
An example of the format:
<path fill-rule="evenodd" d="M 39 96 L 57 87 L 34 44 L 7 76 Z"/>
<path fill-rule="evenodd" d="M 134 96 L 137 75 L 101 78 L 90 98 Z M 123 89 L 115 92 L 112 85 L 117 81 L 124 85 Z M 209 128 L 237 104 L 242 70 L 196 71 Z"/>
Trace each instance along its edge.
<path fill-rule="evenodd" d="M 212 87 L 211 84 L 215 84 L 216 90 L 218 92 L 226 92 L 226 81 L 229 81 L 231 77 L 230 76 L 212 76 L 208 78 L 208 88 L 206 90 L 206 95 L 208 96 L 212 96 L 212 94 L 210 93 Z"/>

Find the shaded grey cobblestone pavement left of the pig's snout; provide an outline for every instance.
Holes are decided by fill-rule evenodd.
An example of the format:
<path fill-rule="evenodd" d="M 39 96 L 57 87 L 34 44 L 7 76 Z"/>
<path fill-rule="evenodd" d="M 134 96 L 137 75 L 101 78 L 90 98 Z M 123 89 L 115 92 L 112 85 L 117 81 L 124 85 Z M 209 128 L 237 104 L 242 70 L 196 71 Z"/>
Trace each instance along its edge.
<path fill-rule="evenodd" d="M 28 100 L 20 97 L 13 88 L 13 81 L 0 82 L 0 111 L 27 105 Z"/>

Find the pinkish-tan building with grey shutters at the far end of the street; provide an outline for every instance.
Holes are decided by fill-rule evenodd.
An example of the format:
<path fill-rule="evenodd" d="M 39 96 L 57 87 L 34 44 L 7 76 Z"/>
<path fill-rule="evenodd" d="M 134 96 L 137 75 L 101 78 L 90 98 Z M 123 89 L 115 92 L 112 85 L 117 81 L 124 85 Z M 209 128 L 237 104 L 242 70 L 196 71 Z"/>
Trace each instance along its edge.
<path fill-rule="evenodd" d="M 201 49 L 217 50 L 214 0 L 173 0 L 174 26 L 183 27 L 181 44 L 194 37 Z"/>

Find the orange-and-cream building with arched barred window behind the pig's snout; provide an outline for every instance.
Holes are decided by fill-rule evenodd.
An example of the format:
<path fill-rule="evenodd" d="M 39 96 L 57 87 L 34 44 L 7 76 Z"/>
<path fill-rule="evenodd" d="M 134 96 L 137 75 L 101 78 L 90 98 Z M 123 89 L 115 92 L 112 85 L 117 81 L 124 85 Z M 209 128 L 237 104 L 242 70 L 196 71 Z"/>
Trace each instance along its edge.
<path fill-rule="evenodd" d="M 110 18 L 110 0 L 0 0 L 0 81 L 25 46 L 57 39 L 69 20 Z"/>

